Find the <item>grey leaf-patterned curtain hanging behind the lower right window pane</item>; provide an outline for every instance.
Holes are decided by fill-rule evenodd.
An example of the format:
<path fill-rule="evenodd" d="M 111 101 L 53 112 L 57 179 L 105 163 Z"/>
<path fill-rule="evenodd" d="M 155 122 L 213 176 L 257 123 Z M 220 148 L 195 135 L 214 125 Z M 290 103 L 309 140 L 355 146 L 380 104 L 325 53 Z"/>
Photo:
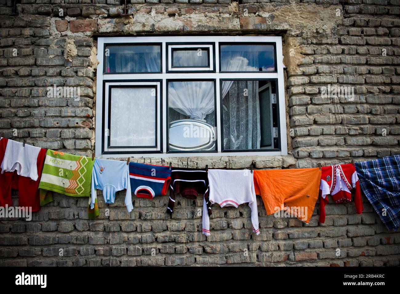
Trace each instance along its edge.
<path fill-rule="evenodd" d="M 224 149 L 260 148 L 258 81 L 234 81 L 222 99 L 222 114 Z"/>

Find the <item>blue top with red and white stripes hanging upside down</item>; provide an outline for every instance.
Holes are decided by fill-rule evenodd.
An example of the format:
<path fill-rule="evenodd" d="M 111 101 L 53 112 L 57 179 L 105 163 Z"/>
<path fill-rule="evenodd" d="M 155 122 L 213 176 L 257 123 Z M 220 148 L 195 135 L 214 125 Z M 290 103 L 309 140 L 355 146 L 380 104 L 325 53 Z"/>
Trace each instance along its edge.
<path fill-rule="evenodd" d="M 168 166 L 129 162 L 129 178 L 137 197 L 152 199 L 167 194 L 171 170 Z"/>

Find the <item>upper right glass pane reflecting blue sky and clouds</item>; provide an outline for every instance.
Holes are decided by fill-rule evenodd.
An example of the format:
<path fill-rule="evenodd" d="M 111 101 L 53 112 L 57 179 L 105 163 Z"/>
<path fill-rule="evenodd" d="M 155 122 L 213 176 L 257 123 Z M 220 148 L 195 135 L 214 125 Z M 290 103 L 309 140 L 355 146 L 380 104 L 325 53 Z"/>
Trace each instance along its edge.
<path fill-rule="evenodd" d="M 275 71 L 273 45 L 221 45 L 222 72 Z"/>

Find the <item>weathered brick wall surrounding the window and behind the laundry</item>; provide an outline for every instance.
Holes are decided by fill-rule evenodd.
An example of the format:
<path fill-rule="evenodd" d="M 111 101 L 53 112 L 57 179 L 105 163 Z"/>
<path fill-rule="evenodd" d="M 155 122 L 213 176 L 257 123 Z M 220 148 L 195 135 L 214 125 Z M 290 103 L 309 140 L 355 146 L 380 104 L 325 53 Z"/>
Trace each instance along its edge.
<path fill-rule="evenodd" d="M 18 15 L 12 4 L 0 0 L 0 131 L 8 138 L 91 156 L 96 36 L 259 34 L 284 40 L 289 155 L 167 162 L 296 168 L 400 153 L 398 0 L 131 0 L 128 17 L 120 16 L 119 0 L 22 0 Z M 80 86 L 80 100 L 48 98 L 53 84 Z M 354 97 L 326 97 L 328 85 L 352 87 Z M 399 265 L 400 234 L 386 230 L 365 198 L 361 215 L 353 203 L 328 204 L 324 224 L 317 204 L 306 226 L 266 216 L 258 197 L 259 236 L 251 234 L 246 205 L 213 206 L 208 239 L 201 234 L 200 197 L 178 196 L 172 218 L 166 196 L 133 198 L 130 214 L 123 199 L 118 193 L 108 205 L 98 194 L 100 217 L 92 221 L 87 199 L 62 195 L 30 222 L 0 220 L 0 265 Z"/>

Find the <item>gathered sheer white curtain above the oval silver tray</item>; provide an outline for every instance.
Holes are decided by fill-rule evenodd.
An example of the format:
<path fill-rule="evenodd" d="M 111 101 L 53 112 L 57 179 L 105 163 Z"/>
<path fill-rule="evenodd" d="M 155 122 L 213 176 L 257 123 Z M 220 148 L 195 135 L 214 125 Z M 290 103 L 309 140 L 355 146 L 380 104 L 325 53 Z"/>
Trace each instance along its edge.
<path fill-rule="evenodd" d="M 169 82 L 168 107 L 191 119 L 205 121 L 206 115 L 214 111 L 214 82 Z"/>

